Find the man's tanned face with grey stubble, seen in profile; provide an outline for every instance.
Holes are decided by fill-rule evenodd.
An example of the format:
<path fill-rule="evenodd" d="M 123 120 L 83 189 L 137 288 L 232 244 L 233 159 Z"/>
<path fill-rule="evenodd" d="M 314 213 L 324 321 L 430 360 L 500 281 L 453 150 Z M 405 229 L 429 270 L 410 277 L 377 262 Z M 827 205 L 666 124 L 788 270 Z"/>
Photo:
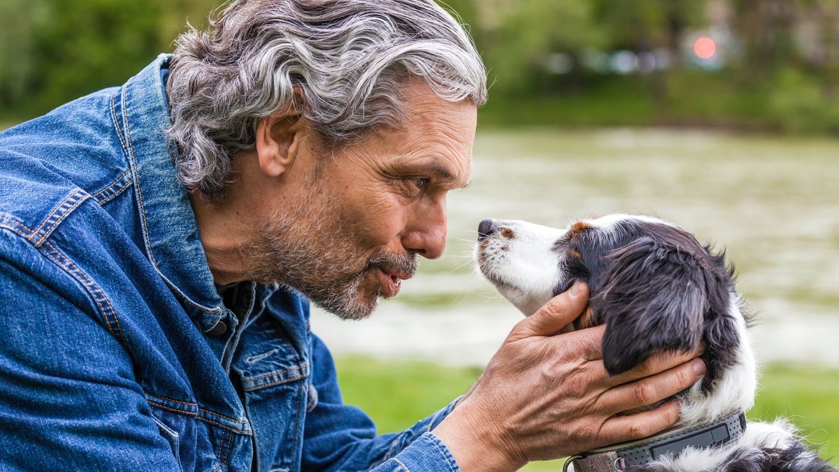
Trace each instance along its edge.
<path fill-rule="evenodd" d="M 477 110 L 421 82 L 408 88 L 405 107 L 399 129 L 326 155 L 312 134 L 300 140 L 282 184 L 293 197 L 274 202 L 255 229 L 258 242 L 242 248 L 253 280 L 361 319 L 414 275 L 417 254 L 443 254 L 446 194 L 468 184 Z"/>

